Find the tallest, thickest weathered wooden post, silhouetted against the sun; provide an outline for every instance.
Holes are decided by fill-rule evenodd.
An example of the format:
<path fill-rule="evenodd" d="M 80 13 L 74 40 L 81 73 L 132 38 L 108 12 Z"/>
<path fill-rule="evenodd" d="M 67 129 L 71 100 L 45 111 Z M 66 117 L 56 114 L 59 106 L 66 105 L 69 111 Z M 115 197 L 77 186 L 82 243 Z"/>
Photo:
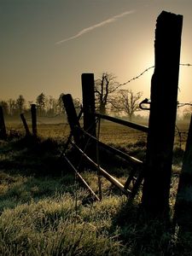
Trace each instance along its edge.
<path fill-rule="evenodd" d="M 143 183 L 143 208 L 154 217 L 169 211 L 182 25 L 182 15 L 166 11 L 156 23 Z"/>

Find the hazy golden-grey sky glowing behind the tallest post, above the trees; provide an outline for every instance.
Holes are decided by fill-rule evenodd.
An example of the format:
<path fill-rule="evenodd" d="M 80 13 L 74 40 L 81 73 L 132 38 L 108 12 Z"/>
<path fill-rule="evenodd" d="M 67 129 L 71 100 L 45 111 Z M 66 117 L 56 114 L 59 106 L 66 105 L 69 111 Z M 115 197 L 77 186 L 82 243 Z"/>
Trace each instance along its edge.
<path fill-rule="evenodd" d="M 162 10 L 183 15 L 180 63 L 192 64 L 191 0 L 0 0 L 0 100 L 81 98 L 82 73 L 137 77 L 154 66 Z M 149 98 L 153 71 L 122 89 Z M 180 67 L 178 86 L 178 101 L 192 102 L 192 67 Z"/>

